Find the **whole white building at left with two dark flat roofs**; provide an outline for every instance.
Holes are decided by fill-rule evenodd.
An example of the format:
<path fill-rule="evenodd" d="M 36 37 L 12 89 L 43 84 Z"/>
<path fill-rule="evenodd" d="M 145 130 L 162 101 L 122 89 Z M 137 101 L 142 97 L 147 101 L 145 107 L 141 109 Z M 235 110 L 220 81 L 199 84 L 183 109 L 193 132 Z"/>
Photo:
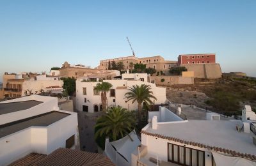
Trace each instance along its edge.
<path fill-rule="evenodd" d="M 30 153 L 77 146 L 77 114 L 58 109 L 58 99 L 31 95 L 0 102 L 0 165 Z"/>

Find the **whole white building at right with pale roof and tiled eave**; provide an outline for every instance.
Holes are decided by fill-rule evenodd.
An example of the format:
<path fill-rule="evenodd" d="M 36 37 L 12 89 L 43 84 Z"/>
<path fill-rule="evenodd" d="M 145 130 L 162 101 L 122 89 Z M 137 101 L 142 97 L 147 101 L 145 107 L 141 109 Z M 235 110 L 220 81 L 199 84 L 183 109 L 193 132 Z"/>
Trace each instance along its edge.
<path fill-rule="evenodd" d="M 140 155 L 132 165 L 256 165 L 255 133 L 239 120 L 182 120 L 159 107 L 141 130 Z M 243 126 L 243 130 L 239 130 Z M 254 143 L 253 143 L 254 142 Z"/>

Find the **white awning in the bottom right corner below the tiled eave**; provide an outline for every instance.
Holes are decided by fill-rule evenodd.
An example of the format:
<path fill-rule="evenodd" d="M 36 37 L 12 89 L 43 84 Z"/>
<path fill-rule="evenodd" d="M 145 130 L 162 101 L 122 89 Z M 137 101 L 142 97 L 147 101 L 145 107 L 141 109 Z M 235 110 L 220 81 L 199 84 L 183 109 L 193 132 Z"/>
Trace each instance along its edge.
<path fill-rule="evenodd" d="M 256 166 L 256 162 L 252 162 L 241 157 L 225 156 L 215 152 L 212 152 L 212 155 L 215 160 L 216 166 Z"/>

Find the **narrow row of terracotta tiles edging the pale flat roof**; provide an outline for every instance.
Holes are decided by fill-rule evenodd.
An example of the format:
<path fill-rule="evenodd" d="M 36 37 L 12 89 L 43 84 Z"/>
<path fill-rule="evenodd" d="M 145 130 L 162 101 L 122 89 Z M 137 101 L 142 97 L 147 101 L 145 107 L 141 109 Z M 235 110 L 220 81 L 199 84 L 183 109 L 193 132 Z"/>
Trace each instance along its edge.
<path fill-rule="evenodd" d="M 225 153 L 225 154 L 228 154 L 228 155 L 238 156 L 238 157 L 241 157 L 241 158 L 247 158 L 249 160 L 256 161 L 256 156 L 255 155 L 250 155 L 250 154 L 247 154 L 247 153 L 244 154 L 244 153 L 239 153 L 239 152 L 232 151 L 232 150 L 229 150 L 229 149 L 224 149 L 224 148 L 221 148 L 221 147 L 207 146 L 205 144 L 200 144 L 198 142 L 186 141 L 186 140 L 182 140 L 182 139 L 177 139 L 175 137 L 169 137 L 169 136 L 164 136 L 164 135 L 160 135 L 160 134 L 157 134 L 157 133 L 146 132 L 144 130 L 141 130 L 141 133 L 143 133 L 145 135 L 152 136 L 152 137 L 158 137 L 159 139 L 172 140 L 174 142 L 180 142 L 182 144 L 188 144 L 188 145 L 197 146 L 197 147 L 201 147 L 201 148 L 205 148 L 205 149 L 211 149 L 212 151 L 216 151 L 216 152 L 219 151 L 221 153 Z"/>

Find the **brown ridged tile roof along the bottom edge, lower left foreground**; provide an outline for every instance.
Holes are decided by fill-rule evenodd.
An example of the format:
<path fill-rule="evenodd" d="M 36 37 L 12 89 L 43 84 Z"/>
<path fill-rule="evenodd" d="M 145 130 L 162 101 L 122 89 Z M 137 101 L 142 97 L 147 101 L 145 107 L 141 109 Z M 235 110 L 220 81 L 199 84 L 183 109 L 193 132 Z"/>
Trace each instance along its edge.
<path fill-rule="evenodd" d="M 33 153 L 35 154 L 35 153 Z M 60 148 L 53 151 L 50 155 L 42 158 L 35 158 L 32 154 L 12 163 L 11 165 L 114 165 L 109 158 L 102 154 L 90 153 L 79 150 Z M 36 154 L 38 155 L 38 154 Z"/>

